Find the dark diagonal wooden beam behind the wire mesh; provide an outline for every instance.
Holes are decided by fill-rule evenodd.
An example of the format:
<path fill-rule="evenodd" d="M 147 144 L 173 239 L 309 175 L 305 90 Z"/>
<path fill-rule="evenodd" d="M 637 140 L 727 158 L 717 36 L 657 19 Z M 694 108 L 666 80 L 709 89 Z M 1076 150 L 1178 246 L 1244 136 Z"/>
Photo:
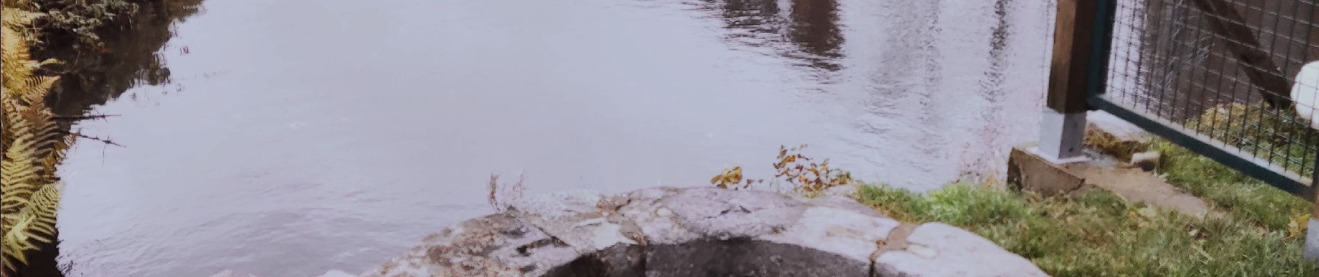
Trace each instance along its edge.
<path fill-rule="evenodd" d="M 1260 46 L 1250 28 L 1245 26 L 1245 18 L 1227 0 L 1191 0 L 1195 8 L 1206 13 L 1210 29 L 1225 39 L 1221 41 L 1228 51 L 1236 58 L 1239 66 L 1245 72 L 1250 84 L 1260 87 L 1264 101 L 1274 109 L 1290 109 L 1291 84 L 1282 76 L 1282 70 L 1273 62 L 1269 53 Z"/>

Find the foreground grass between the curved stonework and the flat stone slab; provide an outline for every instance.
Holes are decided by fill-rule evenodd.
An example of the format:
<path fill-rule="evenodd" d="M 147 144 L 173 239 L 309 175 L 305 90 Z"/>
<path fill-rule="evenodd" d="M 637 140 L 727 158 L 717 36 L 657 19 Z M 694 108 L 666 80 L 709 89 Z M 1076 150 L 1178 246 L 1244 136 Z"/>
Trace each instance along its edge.
<path fill-rule="evenodd" d="M 855 197 L 901 221 L 960 226 L 1053 276 L 1319 276 L 1299 239 L 1250 213 L 1198 219 L 1108 192 L 1042 198 L 973 185 L 926 194 L 863 185 Z"/>

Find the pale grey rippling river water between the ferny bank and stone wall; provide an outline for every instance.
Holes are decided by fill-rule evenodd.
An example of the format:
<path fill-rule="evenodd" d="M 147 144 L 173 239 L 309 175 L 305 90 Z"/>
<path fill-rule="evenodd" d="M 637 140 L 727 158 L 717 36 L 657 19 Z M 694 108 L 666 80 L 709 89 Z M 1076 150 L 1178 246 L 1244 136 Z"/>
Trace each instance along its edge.
<path fill-rule="evenodd" d="M 913 190 L 996 180 L 1035 137 L 1050 1 L 227 0 L 170 81 L 78 123 L 70 276 L 360 272 L 528 194 L 770 176 L 809 144 Z"/>

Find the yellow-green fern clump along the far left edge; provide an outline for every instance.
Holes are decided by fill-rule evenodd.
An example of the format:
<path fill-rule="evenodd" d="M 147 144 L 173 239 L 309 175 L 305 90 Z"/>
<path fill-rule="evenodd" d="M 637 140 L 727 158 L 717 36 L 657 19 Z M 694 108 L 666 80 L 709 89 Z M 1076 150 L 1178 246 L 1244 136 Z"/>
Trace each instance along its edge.
<path fill-rule="evenodd" d="M 32 35 L 32 21 L 45 16 L 25 11 L 28 0 L 3 0 L 0 14 L 0 256 L 3 265 L 26 264 L 26 251 L 37 243 L 53 242 L 55 213 L 59 206 L 59 182 L 54 165 L 69 148 L 69 140 L 51 121 L 45 97 L 59 80 L 38 76 L 42 66 L 58 63 L 32 60 L 25 38 Z"/>

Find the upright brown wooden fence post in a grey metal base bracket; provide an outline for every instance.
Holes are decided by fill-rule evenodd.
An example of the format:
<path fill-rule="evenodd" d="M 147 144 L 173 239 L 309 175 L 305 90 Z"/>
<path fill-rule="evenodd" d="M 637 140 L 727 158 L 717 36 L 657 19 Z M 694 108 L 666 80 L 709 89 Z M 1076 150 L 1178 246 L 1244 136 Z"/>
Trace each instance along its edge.
<path fill-rule="evenodd" d="M 1082 139 L 1086 134 L 1087 74 L 1093 62 L 1099 0 L 1058 0 L 1054 29 L 1054 56 L 1049 68 L 1049 92 L 1042 126 L 1039 155 L 1054 163 L 1084 159 Z"/>

